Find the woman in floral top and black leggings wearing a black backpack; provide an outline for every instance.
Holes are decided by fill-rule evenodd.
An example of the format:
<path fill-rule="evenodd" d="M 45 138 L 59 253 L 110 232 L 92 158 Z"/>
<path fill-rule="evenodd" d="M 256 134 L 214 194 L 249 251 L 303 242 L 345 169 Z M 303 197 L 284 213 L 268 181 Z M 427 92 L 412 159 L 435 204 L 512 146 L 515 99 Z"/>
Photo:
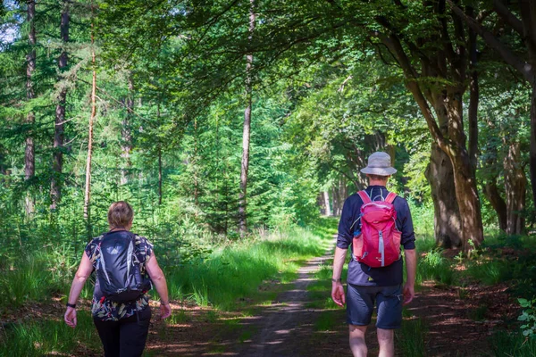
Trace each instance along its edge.
<path fill-rule="evenodd" d="M 147 295 L 151 281 L 160 295 L 162 319 L 172 314 L 167 284 L 156 262 L 153 245 L 147 238 L 130 232 L 133 218 L 129 203 L 112 203 L 108 210 L 110 231 L 86 246 L 67 301 L 64 320 L 75 328 L 80 291 L 96 270 L 91 312 L 105 357 L 143 353 L 151 320 Z"/>

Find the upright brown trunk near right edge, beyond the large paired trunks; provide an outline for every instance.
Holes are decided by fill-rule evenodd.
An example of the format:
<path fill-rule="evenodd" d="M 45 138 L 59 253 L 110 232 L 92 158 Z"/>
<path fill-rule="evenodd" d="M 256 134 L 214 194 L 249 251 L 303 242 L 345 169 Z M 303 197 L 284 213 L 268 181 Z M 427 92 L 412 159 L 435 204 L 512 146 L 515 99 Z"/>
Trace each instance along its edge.
<path fill-rule="evenodd" d="M 505 191 L 507 193 L 507 234 L 521 235 L 524 230 L 524 216 L 527 179 L 520 165 L 519 143 L 508 145 L 505 156 Z"/>

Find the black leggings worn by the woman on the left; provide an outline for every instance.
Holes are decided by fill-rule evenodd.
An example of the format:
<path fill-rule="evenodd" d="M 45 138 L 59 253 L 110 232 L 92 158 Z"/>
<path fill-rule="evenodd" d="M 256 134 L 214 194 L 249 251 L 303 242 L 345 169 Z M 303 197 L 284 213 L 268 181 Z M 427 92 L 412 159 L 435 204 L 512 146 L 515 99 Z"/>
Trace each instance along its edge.
<path fill-rule="evenodd" d="M 93 318 L 98 336 L 105 347 L 105 357 L 136 357 L 141 356 L 145 349 L 151 308 L 138 311 L 126 319 L 118 321 L 102 321 Z"/>

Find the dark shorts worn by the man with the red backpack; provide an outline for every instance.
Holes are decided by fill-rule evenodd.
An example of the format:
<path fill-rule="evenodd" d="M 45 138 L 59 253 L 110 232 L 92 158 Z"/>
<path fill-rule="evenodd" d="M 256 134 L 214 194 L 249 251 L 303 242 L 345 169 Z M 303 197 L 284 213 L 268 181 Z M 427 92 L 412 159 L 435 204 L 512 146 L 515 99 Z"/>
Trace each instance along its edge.
<path fill-rule="evenodd" d="M 374 302 L 378 309 L 376 328 L 400 328 L 402 323 L 402 286 L 356 286 L 348 284 L 347 322 L 367 326 L 371 323 Z"/>

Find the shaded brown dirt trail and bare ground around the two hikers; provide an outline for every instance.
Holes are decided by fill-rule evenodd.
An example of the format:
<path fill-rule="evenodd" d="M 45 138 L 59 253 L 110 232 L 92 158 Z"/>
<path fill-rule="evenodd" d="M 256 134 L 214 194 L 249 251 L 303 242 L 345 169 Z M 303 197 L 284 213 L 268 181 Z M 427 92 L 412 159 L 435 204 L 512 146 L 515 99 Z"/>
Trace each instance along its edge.
<path fill-rule="evenodd" d="M 449 257 L 456 252 L 445 252 Z M 314 258 L 290 283 L 266 281 L 260 293 L 272 300 L 241 299 L 232 312 L 215 311 L 193 303 L 172 302 L 172 317 L 159 320 L 156 304 L 149 331 L 147 356 L 348 356 L 345 310 L 331 304 L 331 281 L 322 277 L 331 267 L 332 249 Z M 456 269 L 464 269 L 458 264 Z M 330 272 L 331 274 L 331 272 Z M 331 278 L 331 275 L 330 275 Z M 414 302 L 404 311 L 403 328 L 397 332 L 397 356 L 411 355 L 402 345 L 422 339 L 424 356 L 491 356 L 491 334 L 515 321 L 518 304 L 505 283 L 482 286 L 465 281 L 463 286 L 443 286 L 426 281 Z M 88 308 L 88 302 L 83 309 Z M 33 316 L 62 323 L 63 304 L 39 304 Z M 13 317 L 14 320 L 15 317 Z M 5 319 L 3 320 L 10 320 Z M 421 328 L 406 332 L 420 320 Z M 373 321 L 374 323 L 374 321 Z M 408 335 L 406 335 L 406 333 Z M 410 336 L 410 334 L 413 334 Z M 375 328 L 367 331 L 369 355 L 377 355 Z M 98 356 L 96 345 L 79 345 L 71 355 Z M 63 354 L 64 355 L 64 354 Z"/>

